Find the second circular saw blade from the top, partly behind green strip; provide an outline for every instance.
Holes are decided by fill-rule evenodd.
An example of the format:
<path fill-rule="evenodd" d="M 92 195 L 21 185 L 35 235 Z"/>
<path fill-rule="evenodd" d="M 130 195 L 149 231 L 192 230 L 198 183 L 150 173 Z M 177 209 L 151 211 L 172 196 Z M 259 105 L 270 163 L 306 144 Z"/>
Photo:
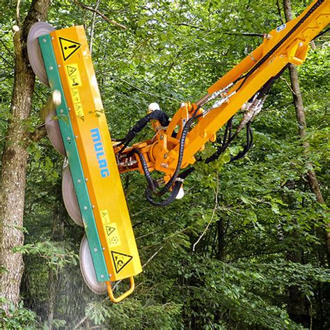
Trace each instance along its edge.
<path fill-rule="evenodd" d="M 49 102 L 47 102 L 47 105 Z M 48 105 L 47 113 L 45 113 L 45 126 L 47 135 L 49 137 L 50 143 L 61 155 L 65 156 L 65 148 L 63 144 L 63 139 L 61 135 L 60 125 L 58 124 L 58 119 L 56 118 L 56 111 L 54 104 Z"/>

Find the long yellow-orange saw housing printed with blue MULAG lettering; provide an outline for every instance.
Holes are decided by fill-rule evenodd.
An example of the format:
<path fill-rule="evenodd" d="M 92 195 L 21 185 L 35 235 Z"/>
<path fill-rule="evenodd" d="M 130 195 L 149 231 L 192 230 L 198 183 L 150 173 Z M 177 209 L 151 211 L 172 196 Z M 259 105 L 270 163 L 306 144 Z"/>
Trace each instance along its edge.
<path fill-rule="evenodd" d="M 134 290 L 132 276 L 142 268 L 84 27 L 54 31 L 50 36 L 104 259 L 111 281 L 130 278 L 126 297 Z M 111 288 L 110 282 L 107 285 Z"/>

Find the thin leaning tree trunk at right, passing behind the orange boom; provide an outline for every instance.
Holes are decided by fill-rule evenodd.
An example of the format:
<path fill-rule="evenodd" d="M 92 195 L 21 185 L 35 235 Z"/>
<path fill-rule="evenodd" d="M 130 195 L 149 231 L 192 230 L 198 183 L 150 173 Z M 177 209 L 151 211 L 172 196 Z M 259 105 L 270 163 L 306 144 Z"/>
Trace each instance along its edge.
<path fill-rule="evenodd" d="M 293 18 L 291 1 L 283 0 L 283 3 L 284 3 L 285 19 L 288 22 Z M 293 91 L 292 95 L 293 95 L 294 107 L 296 109 L 299 136 L 303 140 L 303 146 L 305 151 L 308 152 L 309 143 L 308 141 L 306 141 L 306 117 L 304 111 L 304 103 L 299 86 L 298 70 L 295 67 L 295 65 L 293 64 L 289 65 L 289 72 L 290 72 L 290 81 Z M 308 168 L 313 168 L 313 164 L 308 164 Z M 317 180 L 315 171 L 313 171 L 313 169 L 308 170 L 306 178 L 308 180 L 308 184 L 309 187 L 311 188 L 311 191 L 313 191 L 313 194 L 315 194 L 316 196 L 317 202 L 319 202 L 320 204 L 324 204 L 324 199 L 320 189 L 320 184 Z M 328 228 L 330 228 L 330 222 L 327 224 L 327 226 Z M 324 232 L 324 237 L 325 237 L 325 244 L 327 246 L 327 259 L 330 265 L 330 232 L 326 230 Z"/>

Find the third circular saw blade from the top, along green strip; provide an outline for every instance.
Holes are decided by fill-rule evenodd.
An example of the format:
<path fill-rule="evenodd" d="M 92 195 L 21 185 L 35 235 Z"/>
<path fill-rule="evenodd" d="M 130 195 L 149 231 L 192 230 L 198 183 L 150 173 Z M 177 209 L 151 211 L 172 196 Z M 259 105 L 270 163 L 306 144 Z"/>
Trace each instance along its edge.
<path fill-rule="evenodd" d="M 78 226 L 84 227 L 69 166 L 66 166 L 63 171 L 62 195 L 65 208 L 68 211 L 70 218 L 77 223 Z"/>

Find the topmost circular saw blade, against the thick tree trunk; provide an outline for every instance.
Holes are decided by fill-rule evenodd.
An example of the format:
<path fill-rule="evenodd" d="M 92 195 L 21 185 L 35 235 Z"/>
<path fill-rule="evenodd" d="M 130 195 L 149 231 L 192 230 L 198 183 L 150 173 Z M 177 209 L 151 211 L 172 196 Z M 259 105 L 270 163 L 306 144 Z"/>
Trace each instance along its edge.
<path fill-rule="evenodd" d="M 31 68 L 36 76 L 40 79 L 40 81 L 42 81 L 47 86 L 49 86 L 49 83 L 44 60 L 42 59 L 42 54 L 40 51 L 38 37 L 49 34 L 54 30 L 55 29 L 52 25 L 49 25 L 45 22 L 37 22 L 33 24 L 29 31 L 26 44 Z"/>

